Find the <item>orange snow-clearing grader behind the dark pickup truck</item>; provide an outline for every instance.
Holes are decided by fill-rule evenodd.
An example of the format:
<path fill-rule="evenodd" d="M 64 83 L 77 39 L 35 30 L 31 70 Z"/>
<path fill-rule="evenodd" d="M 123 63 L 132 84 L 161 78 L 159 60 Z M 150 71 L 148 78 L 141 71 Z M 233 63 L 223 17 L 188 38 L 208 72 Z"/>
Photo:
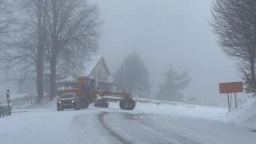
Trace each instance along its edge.
<path fill-rule="evenodd" d="M 81 108 L 88 108 L 91 103 L 94 103 L 95 107 L 108 108 L 109 101 L 119 101 L 119 107 L 123 110 L 133 110 L 136 105 L 130 93 L 96 90 L 95 80 L 88 77 L 78 77 L 76 87 L 61 92 L 76 94 L 80 99 Z"/>

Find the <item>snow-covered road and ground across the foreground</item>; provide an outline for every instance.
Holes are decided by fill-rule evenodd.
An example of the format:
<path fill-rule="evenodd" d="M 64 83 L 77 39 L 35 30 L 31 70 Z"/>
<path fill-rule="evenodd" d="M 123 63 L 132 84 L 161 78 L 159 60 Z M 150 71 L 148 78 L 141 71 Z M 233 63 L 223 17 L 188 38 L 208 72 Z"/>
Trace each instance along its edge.
<path fill-rule="evenodd" d="M 56 111 L 54 102 L 0 118 L 0 143 L 255 143 L 256 132 L 230 122 L 225 108 L 137 102 L 133 111 Z"/>

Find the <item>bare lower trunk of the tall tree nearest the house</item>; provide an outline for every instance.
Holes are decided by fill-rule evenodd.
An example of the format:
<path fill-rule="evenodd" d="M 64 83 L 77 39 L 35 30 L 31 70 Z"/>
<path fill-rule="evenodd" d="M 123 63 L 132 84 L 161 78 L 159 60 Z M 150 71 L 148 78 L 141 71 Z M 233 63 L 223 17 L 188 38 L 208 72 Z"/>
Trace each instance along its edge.
<path fill-rule="evenodd" d="M 56 62 L 57 57 L 50 60 L 50 100 L 56 96 Z"/>

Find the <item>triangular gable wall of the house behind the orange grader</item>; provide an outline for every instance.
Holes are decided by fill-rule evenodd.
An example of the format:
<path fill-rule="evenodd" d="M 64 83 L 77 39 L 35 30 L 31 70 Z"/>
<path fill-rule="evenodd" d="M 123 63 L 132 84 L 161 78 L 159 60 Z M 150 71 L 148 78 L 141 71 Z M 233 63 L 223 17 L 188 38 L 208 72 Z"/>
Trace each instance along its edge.
<path fill-rule="evenodd" d="M 99 61 L 99 63 L 96 65 L 94 70 L 92 71 L 92 74 L 89 76 L 95 79 L 95 81 L 102 81 L 102 82 L 109 82 L 108 81 L 108 74 L 104 67 L 102 59 Z"/>

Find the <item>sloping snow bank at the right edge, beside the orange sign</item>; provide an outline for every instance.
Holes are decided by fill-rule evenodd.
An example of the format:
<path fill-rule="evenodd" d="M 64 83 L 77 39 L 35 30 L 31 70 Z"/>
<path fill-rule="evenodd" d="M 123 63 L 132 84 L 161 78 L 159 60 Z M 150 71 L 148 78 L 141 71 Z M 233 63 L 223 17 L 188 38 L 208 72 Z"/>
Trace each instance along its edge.
<path fill-rule="evenodd" d="M 231 122 L 256 132 L 256 98 L 248 98 L 244 105 L 229 114 Z"/>

